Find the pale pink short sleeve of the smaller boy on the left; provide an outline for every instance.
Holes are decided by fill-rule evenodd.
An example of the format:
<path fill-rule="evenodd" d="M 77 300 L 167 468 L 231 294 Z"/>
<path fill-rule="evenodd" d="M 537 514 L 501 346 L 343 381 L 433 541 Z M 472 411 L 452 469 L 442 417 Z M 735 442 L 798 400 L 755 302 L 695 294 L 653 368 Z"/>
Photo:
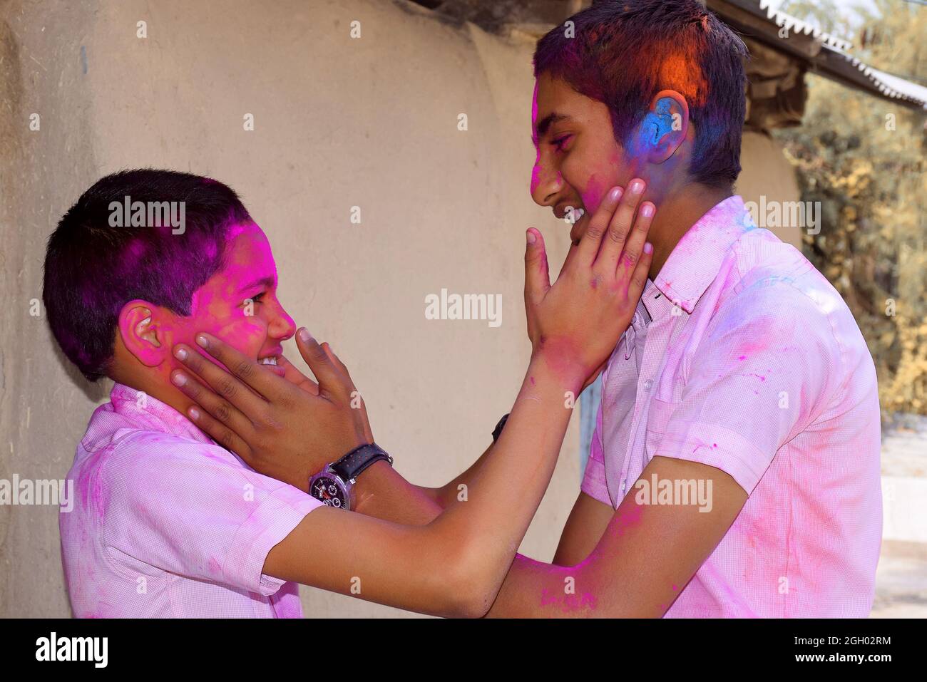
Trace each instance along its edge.
<path fill-rule="evenodd" d="M 137 432 L 104 466 L 104 542 L 139 562 L 269 596 L 264 560 L 322 503 L 210 443 Z"/>

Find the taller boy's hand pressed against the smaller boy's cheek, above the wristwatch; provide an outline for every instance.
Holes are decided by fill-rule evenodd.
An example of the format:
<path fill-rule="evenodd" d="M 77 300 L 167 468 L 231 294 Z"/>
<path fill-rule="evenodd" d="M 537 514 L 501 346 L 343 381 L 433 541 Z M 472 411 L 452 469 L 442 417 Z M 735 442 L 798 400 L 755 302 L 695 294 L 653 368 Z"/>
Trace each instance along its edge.
<path fill-rule="evenodd" d="M 299 353 L 318 384 L 289 361 L 281 378 L 207 334 L 197 337 L 206 339 L 209 356 L 230 371 L 198 348 L 179 344 L 174 355 L 186 351 L 178 360 L 190 372 L 175 370 L 171 379 L 184 374 L 178 388 L 202 408 L 187 410 L 187 416 L 217 443 L 260 474 L 308 490 L 313 474 L 374 437 L 348 368 L 308 331 L 306 339 L 297 336 Z"/>

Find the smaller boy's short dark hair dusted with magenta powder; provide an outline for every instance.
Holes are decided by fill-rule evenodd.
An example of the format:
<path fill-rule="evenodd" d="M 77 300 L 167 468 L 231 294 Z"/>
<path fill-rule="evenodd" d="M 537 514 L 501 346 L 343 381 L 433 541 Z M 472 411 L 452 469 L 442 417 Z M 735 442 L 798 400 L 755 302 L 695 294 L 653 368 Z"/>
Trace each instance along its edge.
<path fill-rule="evenodd" d="M 183 202 L 182 229 L 160 219 L 131 226 L 120 212 L 126 197 Z M 231 188 L 199 175 L 121 170 L 97 181 L 58 221 L 45 252 L 42 298 L 64 354 L 90 381 L 107 374 L 122 307 L 139 298 L 189 315 L 194 292 L 222 268 L 229 228 L 250 221 Z"/>

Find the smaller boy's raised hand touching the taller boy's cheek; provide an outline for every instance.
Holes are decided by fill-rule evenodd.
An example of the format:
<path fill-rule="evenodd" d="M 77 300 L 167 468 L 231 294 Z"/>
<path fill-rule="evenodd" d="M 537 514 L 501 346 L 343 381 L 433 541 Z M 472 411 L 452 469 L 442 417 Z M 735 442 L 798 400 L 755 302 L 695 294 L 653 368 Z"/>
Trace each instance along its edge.
<path fill-rule="evenodd" d="M 634 218 L 643 189 L 643 181 L 633 180 L 627 192 L 615 187 L 603 197 L 553 285 L 544 240 L 534 228 L 527 231 L 525 309 L 533 356 L 566 382 L 581 386 L 596 375 L 634 316 L 653 259 L 646 237 L 654 205 L 644 202 Z"/>

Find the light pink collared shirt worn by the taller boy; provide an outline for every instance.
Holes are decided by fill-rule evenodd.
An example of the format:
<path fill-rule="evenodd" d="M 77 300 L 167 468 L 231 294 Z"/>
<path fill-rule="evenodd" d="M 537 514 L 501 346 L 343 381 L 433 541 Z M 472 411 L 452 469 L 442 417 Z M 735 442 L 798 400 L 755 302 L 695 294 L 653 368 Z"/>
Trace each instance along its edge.
<path fill-rule="evenodd" d="M 869 615 L 875 367 L 837 291 L 740 196 L 648 280 L 603 373 L 582 490 L 617 507 L 657 454 L 717 467 L 750 496 L 667 616 Z"/>

